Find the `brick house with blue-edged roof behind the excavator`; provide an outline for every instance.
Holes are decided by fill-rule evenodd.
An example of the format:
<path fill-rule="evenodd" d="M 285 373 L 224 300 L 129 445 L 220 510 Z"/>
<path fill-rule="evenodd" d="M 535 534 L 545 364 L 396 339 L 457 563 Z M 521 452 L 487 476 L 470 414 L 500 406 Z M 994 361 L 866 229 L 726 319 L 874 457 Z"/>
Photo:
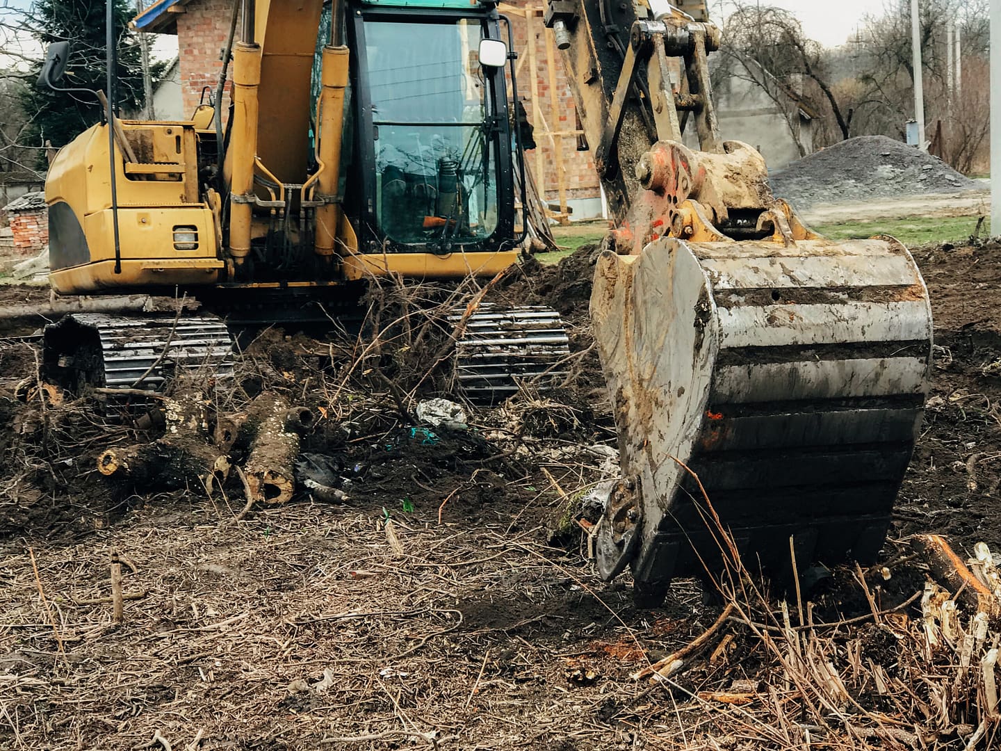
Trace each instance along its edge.
<path fill-rule="evenodd" d="M 551 204 L 560 203 L 562 182 L 573 218 L 600 217 L 603 202 L 598 175 L 591 152 L 577 150 L 574 99 L 553 40 L 547 41 L 552 32 L 543 24 L 542 3 L 516 0 L 511 10 L 519 53 L 519 95 L 529 121 L 536 125 L 538 144 L 527 153 L 526 162 Z M 183 112 L 195 110 L 206 86 L 215 90 L 231 11 L 232 0 L 158 0 L 133 20 L 137 30 L 177 36 Z M 532 49 L 528 45 L 530 36 Z M 534 80 L 530 73 L 533 67 Z M 540 179 L 540 173 L 545 180 Z"/>

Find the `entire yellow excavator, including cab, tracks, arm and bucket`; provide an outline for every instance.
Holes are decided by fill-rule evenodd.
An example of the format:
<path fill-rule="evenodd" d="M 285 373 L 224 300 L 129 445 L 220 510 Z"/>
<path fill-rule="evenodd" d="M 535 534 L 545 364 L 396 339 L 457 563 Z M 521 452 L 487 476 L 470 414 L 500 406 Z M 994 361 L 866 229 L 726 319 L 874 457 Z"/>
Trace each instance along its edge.
<path fill-rule="evenodd" d="M 319 40 L 321 0 L 240 4 L 225 129 L 218 112 L 142 122 L 109 105 L 53 161 L 56 291 L 176 288 L 273 320 L 350 306 L 373 276 L 516 260 L 513 37 L 492 2 L 334 0 Z M 593 520 L 602 575 L 631 569 L 651 606 L 735 555 L 780 577 L 874 559 L 931 359 L 910 254 L 821 237 L 773 196 L 761 154 L 722 139 L 704 2 L 548 0 L 546 22 L 616 224 L 591 301 L 622 465 Z M 46 85 L 67 54 L 50 50 Z M 472 388 L 506 393 L 566 351 L 550 311 L 483 315 Z M 43 374 L 155 384 L 166 360 L 224 366 L 228 336 L 220 318 L 77 314 L 46 330 Z"/>

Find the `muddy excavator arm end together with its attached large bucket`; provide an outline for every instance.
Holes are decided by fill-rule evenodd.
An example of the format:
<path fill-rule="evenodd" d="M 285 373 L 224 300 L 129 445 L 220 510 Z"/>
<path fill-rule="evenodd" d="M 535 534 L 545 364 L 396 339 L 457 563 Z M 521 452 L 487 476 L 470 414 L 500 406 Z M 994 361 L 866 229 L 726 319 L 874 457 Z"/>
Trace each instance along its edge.
<path fill-rule="evenodd" d="M 738 557 L 787 582 L 873 561 L 931 365 L 910 253 L 821 237 L 722 139 L 704 0 L 548 0 L 546 23 L 617 225 L 591 298 L 622 464 L 593 520 L 602 575 L 631 568 L 653 606 Z"/>

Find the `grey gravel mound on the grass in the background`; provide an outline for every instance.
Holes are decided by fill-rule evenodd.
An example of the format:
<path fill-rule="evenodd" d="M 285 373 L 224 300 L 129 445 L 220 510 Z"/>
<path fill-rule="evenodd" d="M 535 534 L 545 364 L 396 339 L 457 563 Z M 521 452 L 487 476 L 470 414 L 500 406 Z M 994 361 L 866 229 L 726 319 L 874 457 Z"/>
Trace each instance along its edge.
<path fill-rule="evenodd" d="M 825 201 L 958 193 L 981 185 L 941 159 L 884 135 L 837 143 L 771 176 L 772 190 L 799 209 Z"/>

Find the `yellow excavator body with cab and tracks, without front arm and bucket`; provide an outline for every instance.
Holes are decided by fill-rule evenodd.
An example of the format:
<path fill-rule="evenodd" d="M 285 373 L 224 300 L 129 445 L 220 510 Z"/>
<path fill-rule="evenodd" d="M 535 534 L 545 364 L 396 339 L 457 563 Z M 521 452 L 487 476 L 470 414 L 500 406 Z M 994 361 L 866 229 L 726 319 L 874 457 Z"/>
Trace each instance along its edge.
<path fill-rule="evenodd" d="M 223 317 L 348 315 L 374 277 L 492 277 L 520 255 L 516 56 L 494 2 L 237 5 L 228 118 L 219 101 L 188 121 L 120 119 L 112 93 L 45 188 L 57 293 L 186 294 L 213 315 L 66 316 L 45 331 L 53 383 L 155 386 L 165 366 L 225 367 Z M 69 55 L 52 45 L 39 83 L 60 90 Z M 508 396 L 569 353 L 547 308 L 482 308 L 464 331 L 456 374 L 470 397 Z"/>

